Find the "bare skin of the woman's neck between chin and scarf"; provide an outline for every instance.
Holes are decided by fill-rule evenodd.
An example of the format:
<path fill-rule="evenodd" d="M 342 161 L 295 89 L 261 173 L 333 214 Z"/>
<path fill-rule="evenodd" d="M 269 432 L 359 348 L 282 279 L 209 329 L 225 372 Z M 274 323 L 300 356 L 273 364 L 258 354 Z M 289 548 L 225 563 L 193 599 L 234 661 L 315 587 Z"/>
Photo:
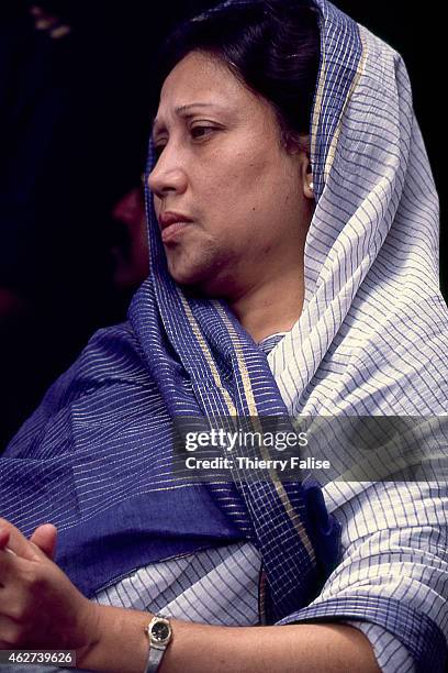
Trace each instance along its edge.
<path fill-rule="evenodd" d="M 254 341 L 288 332 L 299 320 L 304 296 L 303 274 L 291 269 L 269 284 L 253 287 L 228 306 Z"/>

